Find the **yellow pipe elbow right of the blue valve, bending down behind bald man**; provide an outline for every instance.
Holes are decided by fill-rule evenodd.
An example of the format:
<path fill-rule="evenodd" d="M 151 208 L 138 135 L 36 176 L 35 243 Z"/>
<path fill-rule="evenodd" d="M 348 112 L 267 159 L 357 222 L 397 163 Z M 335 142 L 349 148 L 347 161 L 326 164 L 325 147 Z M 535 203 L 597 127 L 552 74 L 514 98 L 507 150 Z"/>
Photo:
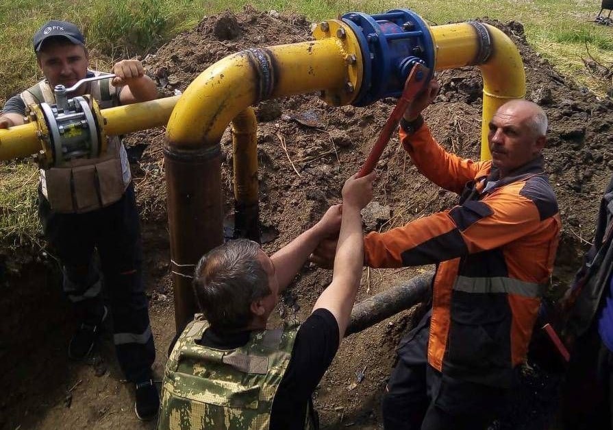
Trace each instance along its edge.
<path fill-rule="evenodd" d="M 487 27 L 492 53 L 484 64 L 476 64 L 483 76 L 481 117 L 481 160 L 492 158 L 488 146 L 488 124 L 496 110 L 510 99 L 521 99 L 526 92 L 523 62 L 513 41 L 492 25 Z M 436 46 L 436 70 L 456 69 L 475 64 L 479 36 L 468 23 L 430 27 Z"/>

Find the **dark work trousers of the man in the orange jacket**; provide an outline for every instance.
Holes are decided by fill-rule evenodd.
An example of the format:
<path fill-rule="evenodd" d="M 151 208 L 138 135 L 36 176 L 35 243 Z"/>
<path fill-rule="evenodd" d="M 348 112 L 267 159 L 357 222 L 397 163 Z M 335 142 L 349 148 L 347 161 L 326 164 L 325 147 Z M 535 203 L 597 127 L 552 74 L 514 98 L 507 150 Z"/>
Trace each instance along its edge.
<path fill-rule="evenodd" d="M 508 390 L 460 381 L 427 362 L 431 312 L 406 335 L 386 387 L 386 430 L 486 429 L 507 401 Z"/>

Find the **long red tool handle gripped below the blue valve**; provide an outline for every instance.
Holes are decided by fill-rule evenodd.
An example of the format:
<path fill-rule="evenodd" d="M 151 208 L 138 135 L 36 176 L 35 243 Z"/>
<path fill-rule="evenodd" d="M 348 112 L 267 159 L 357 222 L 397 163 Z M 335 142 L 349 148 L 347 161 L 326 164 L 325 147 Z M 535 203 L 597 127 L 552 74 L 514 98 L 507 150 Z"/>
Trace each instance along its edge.
<path fill-rule="evenodd" d="M 388 145 L 392 133 L 395 132 L 396 128 L 398 127 L 398 123 L 400 122 L 404 111 L 407 109 L 410 102 L 416 97 L 416 95 L 421 93 L 423 88 L 425 88 L 428 73 L 429 69 L 421 63 L 416 63 L 413 66 L 413 69 L 411 70 L 411 73 L 409 73 L 409 77 L 407 77 L 404 84 L 402 95 L 398 99 L 396 107 L 394 110 L 392 110 L 392 114 L 386 121 L 385 126 L 383 126 L 383 130 L 381 131 L 381 134 L 379 134 L 379 138 L 377 139 L 377 142 L 375 142 L 371 153 L 368 154 L 368 158 L 366 158 L 362 169 L 360 169 L 358 172 L 358 178 L 368 175 L 375 169 L 377 161 L 379 161 L 381 154 L 383 154 L 383 150 L 385 150 L 385 147 Z"/>

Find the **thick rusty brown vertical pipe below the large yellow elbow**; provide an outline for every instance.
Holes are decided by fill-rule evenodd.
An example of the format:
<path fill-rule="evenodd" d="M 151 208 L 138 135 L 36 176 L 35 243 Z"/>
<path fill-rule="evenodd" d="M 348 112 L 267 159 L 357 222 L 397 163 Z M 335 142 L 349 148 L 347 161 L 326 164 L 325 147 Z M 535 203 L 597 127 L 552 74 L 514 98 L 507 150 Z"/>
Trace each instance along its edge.
<path fill-rule="evenodd" d="M 223 243 L 221 149 L 214 145 L 185 151 L 177 145 L 166 144 L 164 166 L 175 324 L 177 333 L 181 333 L 197 312 L 192 279 L 202 250 Z"/>

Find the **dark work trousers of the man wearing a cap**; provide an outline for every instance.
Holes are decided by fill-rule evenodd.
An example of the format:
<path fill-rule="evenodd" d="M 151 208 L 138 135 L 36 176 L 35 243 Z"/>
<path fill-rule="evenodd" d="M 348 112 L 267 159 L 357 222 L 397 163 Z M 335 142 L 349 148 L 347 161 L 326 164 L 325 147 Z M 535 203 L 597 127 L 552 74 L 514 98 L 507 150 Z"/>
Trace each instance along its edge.
<path fill-rule="evenodd" d="M 151 378 L 155 346 L 142 285 L 140 226 L 130 184 L 118 202 L 87 213 L 54 213 L 40 193 L 38 215 L 64 272 L 64 293 L 77 318 L 99 325 L 104 315 L 102 285 L 110 299 L 113 341 L 128 381 Z M 95 264 L 97 250 L 102 277 Z"/>

